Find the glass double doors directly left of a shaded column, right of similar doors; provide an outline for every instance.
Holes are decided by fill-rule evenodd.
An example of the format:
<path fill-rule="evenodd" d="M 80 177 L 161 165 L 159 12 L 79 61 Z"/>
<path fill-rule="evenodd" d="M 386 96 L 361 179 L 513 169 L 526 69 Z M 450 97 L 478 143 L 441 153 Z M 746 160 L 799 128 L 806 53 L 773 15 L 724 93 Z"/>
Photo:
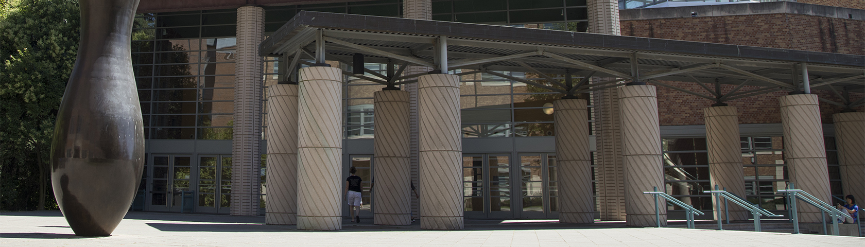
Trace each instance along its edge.
<path fill-rule="evenodd" d="M 520 154 L 520 218 L 559 218 L 554 154 Z"/>

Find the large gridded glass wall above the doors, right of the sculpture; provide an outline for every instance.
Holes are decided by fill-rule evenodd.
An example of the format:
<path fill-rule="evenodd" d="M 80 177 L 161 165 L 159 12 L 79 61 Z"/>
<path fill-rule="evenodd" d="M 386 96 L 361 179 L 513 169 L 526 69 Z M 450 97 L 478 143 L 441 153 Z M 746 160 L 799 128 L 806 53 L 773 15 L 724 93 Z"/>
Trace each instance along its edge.
<path fill-rule="evenodd" d="M 231 140 L 234 16 L 231 10 L 136 16 L 132 68 L 145 138 Z"/>

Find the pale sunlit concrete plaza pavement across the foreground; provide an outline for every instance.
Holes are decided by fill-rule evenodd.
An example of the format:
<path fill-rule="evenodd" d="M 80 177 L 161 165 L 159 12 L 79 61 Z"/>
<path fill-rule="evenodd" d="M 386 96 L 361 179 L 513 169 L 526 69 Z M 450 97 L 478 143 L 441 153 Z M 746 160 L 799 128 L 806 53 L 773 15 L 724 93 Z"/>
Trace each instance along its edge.
<path fill-rule="evenodd" d="M 365 222 L 363 222 L 365 221 Z M 59 211 L 0 212 L 0 246 L 865 246 L 865 237 L 630 228 L 623 223 L 466 220 L 462 231 L 343 221 L 342 231 L 264 225 L 264 217 L 129 212 L 111 237 L 76 237 Z"/>

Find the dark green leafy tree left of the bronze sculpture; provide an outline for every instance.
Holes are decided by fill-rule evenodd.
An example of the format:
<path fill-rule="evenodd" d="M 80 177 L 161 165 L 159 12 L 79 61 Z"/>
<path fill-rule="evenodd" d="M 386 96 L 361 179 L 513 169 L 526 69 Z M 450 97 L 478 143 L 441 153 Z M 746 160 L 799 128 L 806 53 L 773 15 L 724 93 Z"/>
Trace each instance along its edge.
<path fill-rule="evenodd" d="M 48 189 L 51 139 L 78 51 L 78 1 L 2 1 L 0 209 L 56 208 Z"/>

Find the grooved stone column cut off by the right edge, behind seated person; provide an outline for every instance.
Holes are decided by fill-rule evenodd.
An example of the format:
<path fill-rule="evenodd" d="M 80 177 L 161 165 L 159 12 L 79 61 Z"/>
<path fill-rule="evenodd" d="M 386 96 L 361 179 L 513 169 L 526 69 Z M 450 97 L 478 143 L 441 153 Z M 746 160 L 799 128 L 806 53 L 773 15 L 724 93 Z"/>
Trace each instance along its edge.
<path fill-rule="evenodd" d="M 832 115 L 835 142 L 841 165 L 841 187 L 845 194 L 865 199 L 865 112 Z M 862 208 L 862 202 L 857 202 Z"/>

